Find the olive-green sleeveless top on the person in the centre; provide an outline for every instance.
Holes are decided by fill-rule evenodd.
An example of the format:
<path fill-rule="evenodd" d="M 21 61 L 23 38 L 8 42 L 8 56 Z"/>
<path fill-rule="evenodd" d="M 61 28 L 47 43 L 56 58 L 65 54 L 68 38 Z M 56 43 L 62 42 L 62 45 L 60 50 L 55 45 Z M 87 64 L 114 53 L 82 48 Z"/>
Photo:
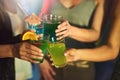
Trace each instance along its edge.
<path fill-rule="evenodd" d="M 50 13 L 62 16 L 64 20 L 68 20 L 69 23 L 74 26 L 90 28 L 89 23 L 95 7 L 94 0 L 83 0 L 82 3 L 72 8 L 64 7 L 57 0 L 55 4 L 52 5 Z M 91 48 L 94 46 L 93 43 L 83 43 L 69 37 L 67 37 L 65 40 L 67 48 Z"/>

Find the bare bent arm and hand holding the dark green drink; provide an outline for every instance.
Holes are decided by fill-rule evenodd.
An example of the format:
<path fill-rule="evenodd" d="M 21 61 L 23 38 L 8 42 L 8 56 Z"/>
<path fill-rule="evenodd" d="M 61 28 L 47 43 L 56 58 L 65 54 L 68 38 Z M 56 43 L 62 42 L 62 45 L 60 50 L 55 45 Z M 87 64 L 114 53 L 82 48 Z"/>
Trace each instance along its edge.
<path fill-rule="evenodd" d="M 57 36 L 63 35 L 60 36 L 58 39 L 69 36 L 79 41 L 85 41 L 85 42 L 96 41 L 100 35 L 100 29 L 104 14 L 103 8 L 104 8 L 104 0 L 99 0 L 97 3 L 97 9 L 94 15 L 91 29 L 76 28 L 70 25 L 68 21 L 63 22 L 61 25 L 58 26 L 58 29 L 56 30 Z M 73 34 L 74 32 L 76 34 Z"/>

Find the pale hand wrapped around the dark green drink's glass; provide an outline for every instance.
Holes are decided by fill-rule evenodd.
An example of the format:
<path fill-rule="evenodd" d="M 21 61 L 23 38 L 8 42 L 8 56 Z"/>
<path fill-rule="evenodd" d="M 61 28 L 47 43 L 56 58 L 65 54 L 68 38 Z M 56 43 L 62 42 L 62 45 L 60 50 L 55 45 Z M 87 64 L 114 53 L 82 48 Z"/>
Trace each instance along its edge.
<path fill-rule="evenodd" d="M 63 39 L 67 36 L 69 36 L 71 32 L 72 26 L 69 24 L 68 21 L 64 21 L 60 25 L 58 25 L 58 29 L 55 31 L 56 36 L 58 36 L 57 40 Z"/>

